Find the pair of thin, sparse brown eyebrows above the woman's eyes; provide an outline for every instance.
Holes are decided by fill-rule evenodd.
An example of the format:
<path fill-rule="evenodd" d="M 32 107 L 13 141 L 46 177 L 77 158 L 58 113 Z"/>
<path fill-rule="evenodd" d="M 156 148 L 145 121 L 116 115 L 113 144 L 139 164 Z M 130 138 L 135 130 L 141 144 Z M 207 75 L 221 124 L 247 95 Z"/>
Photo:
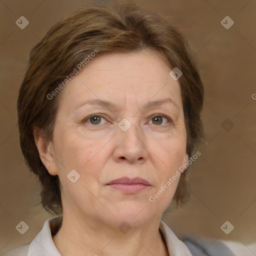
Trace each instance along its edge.
<path fill-rule="evenodd" d="M 158 106 L 166 104 L 166 103 L 173 104 L 179 110 L 179 106 L 171 98 L 163 98 L 163 99 L 159 99 L 159 100 L 148 101 L 139 109 L 139 111 L 147 110 L 149 108 L 158 107 Z M 115 103 L 107 101 L 107 100 L 102 100 L 102 99 L 84 100 L 84 101 L 81 101 L 78 104 L 76 104 L 74 108 L 76 109 L 76 108 L 81 107 L 86 104 L 98 105 L 98 106 L 109 108 L 109 109 L 118 109 L 119 108 Z"/>

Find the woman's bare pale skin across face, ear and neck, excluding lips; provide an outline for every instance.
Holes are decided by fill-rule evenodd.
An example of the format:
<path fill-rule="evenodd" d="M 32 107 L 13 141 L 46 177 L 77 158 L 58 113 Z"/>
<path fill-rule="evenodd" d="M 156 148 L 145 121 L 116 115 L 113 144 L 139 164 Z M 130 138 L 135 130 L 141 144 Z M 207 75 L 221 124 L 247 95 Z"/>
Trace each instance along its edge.
<path fill-rule="evenodd" d="M 53 242 L 62 256 L 168 255 L 158 227 L 178 178 L 154 202 L 148 198 L 188 160 L 180 87 L 170 70 L 151 50 L 99 55 L 58 95 L 53 138 L 35 141 L 61 183 L 63 222 Z M 91 99 L 115 106 L 85 103 Z M 118 126 L 123 118 L 131 124 L 126 131 Z M 80 174 L 74 183 L 72 169 Z M 150 185 L 133 194 L 106 185 L 123 176 Z M 125 234 L 123 221 L 131 226 Z"/>

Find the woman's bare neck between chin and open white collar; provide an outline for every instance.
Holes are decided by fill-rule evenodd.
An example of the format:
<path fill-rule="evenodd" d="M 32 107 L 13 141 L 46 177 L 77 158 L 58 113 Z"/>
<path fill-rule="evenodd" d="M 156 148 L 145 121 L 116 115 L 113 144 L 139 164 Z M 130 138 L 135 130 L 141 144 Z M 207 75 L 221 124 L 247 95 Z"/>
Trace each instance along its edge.
<path fill-rule="evenodd" d="M 158 230 L 159 221 L 156 219 L 128 231 L 122 229 L 122 232 L 96 219 L 78 221 L 63 214 L 62 225 L 53 236 L 53 242 L 62 256 L 168 256 Z"/>

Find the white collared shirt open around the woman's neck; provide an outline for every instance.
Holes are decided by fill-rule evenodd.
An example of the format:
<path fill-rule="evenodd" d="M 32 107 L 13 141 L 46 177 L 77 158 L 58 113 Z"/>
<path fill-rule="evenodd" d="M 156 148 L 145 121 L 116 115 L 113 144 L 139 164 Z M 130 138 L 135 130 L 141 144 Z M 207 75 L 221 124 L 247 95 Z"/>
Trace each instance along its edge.
<path fill-rule="evenodd" d="M 41 231 L 31 243 L 14 248 L 2 256 L 61 256 L 51 235 L 57 230 L 61 218 L 62 216 L 59 215 L 47 219 Z M 162 220 L 159 230 L 164 237 L 170 256 L 192 256 L 186 245 L 176 237 Z"/>

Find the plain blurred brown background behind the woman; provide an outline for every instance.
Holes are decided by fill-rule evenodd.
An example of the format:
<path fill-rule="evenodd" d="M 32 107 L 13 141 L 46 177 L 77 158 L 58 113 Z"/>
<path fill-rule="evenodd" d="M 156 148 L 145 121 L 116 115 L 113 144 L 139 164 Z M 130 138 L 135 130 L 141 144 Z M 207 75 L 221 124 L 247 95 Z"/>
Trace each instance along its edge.
<path fill-rule="evenodd" d="M 256 241 L 256 1 L 137 2 L 184 30 L 205 85 L 208 144 L 189 170 L 192 198 L 182 208 L 167 210 L 163 220 L 180 238 L 234 240 L 247 248 L 247 255 L 256 255 L 250 245 Z M 86 3 L 0 1 L 0 252 L 30 242 L 50 217 L 39 203 L 39 186 L 18 142 L 16 99 L 29 50 L 56 21 Z M 21 15 L 29 20 L 23 30 L 15 24 Z M 220 23 L 226 15 L 234 21 L 229 29 Z M 15 229 L 21 220 L 29 225 L 23 235 Z M 220 229 L 226 220 L 234 225 L 228 235 Z"/>

